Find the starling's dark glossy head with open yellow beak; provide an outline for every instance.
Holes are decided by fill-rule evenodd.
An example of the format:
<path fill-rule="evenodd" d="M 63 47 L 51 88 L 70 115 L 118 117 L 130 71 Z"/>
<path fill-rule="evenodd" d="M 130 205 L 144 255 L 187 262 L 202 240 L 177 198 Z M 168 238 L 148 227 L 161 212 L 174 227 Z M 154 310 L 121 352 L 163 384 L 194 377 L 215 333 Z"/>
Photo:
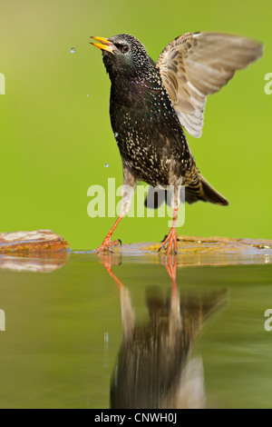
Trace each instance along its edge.
<path fill-rule="evenodd" d="M 102 49 L 103 63 L 111 79 L 117 75 L 126 78 L 142 76 L 153 65 L 144 45 L 132 35 L 92 37 L 92 39 L 99 42 L 92 42 L 92 45 Z"/>

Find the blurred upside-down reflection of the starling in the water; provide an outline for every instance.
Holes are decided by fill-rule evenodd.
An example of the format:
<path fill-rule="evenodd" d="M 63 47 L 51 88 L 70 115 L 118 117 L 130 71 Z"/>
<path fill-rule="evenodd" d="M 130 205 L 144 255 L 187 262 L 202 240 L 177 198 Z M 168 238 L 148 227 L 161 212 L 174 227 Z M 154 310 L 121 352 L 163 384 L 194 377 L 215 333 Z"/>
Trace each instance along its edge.
<path fill-rule="evenodd" d="M 180 295 L 176 284 L 177 257 L 164 257 L 172 282 L 168 297 L 159 287 L 147 288 L 149 320 L 137 323 L 131 295 L 115 273 L 112 254 L 101 254 L 121 297 L 122 343 L 112 374 L 111 407 L 119 409 L 204 408 L 201 357 L 190 357 L 203 324 L 223 307 L 227 291 Z M 117 262 L 118 263 L 118 262 Z"/>

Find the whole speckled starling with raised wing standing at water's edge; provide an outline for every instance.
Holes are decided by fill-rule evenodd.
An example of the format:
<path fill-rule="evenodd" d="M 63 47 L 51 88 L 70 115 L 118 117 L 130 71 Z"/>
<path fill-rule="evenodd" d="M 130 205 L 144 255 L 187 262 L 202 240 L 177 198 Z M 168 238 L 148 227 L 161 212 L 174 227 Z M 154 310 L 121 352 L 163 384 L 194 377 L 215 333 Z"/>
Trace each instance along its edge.
<path fill-rule="evenodd" d="M 262 55 L 262 45 L 238 35 L 188 33 L 175 38 L 161 52 L 157 64 L 132 35 L 92 37 L 112 81 L 110 115 L 123 166 L 121 214 L 96 252 L 110 250 L 111 237 L 128 213 L 136 180 L 166 190 L 171 197 L 173 224 L 161 244 L 177 252 L 176 216 L 180 185 L 185 200 L 227 205 L 200 174 L 183 128 L 201 135 L 208 94 L 228 83 L 236 70 Z"/>

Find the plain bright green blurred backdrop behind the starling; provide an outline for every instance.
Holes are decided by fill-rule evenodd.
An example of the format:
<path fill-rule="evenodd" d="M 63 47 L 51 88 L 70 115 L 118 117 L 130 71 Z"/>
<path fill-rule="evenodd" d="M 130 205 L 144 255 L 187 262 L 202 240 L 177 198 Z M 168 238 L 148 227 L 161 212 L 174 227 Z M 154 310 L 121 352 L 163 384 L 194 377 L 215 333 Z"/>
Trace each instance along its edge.
<path fill-rule="evenodd" d="M 87 214 L 92 184 L 122 180 L 110 81 L 91 35 L 130 33 L 156 60 L 177 35 L 220 31 L 265 43 L 265 55 L 209 98 L 201 139 L 188 137 L 201 173 L 230 205 L 187 206 L 179 232 L 272 238 L 271 16 L 270 0 L 1 0 L 0 232 L 52 229 L 73 249 L 93 249 L 112 226 Z M 114 235 L 159 241 L 167 227 L 167 218 L 126 218 Z"/>

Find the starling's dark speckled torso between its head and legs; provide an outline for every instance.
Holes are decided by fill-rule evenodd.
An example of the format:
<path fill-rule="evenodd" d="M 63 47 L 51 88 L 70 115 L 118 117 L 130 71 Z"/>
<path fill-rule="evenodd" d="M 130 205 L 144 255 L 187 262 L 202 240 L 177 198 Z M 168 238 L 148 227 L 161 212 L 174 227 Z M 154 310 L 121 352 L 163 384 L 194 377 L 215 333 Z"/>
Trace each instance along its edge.
<path fill-rule="evenodd" d="M 185 177 L 194 165 L 180 121 L 161 82 L 159 71 L 149 64 L 144 81 L 112 83 L 112 129 L 124 163 L 136 178 L 152 186 L 170 185 Z M 181 184 L 181 182 L 179 183 Z"/>

